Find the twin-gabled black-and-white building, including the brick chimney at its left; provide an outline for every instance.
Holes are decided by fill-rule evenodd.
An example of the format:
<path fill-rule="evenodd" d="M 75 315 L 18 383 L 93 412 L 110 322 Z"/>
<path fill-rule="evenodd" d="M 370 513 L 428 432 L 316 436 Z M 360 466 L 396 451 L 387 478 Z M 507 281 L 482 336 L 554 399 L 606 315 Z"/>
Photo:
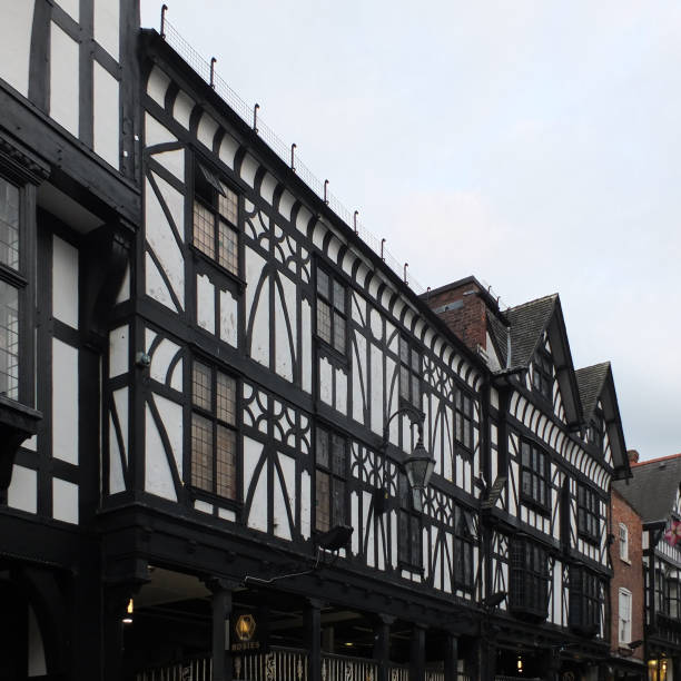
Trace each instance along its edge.
<path fill-rule="evenodd" d="M 556 295 L 506 310 L 475 278 L 428 294 L 483 356 L 485 659 L 503 675 L 591 678 L 608 653 L 610 483 L 629 463 L 610 364 L 574 371 Z"/>

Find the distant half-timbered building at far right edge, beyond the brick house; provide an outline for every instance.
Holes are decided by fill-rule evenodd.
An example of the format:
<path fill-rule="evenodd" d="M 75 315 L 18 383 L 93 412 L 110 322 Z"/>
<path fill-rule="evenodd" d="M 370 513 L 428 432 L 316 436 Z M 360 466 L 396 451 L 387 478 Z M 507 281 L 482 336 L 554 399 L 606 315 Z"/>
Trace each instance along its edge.
<path fill-rule="evenodd" d="M 681 679 L 681 454 L 632 464 L 616 491 L 640 513 L 650 681 Z"/>

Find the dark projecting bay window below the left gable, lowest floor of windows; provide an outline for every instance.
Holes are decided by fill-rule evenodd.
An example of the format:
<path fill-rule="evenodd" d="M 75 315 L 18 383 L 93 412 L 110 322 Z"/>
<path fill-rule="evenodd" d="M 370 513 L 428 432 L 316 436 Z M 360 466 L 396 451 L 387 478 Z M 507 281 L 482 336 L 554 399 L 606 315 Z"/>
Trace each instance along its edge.
<path fill-rule="evenodd" d="M 511 610 L 544 619 L 549 605 L 549 556 L 535 542 L 511 542 Z"/>

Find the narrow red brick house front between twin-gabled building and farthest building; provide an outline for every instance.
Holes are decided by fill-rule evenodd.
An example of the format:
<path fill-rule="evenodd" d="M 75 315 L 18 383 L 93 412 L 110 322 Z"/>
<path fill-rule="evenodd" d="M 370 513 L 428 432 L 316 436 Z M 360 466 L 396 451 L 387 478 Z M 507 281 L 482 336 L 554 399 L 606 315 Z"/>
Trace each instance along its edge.
<path fill-rule="evenodd" d="M 620 557 L 620 523 L 629 530 L 629 561 Z M 610 546 L 610 560 L 613 576 L 610 582 L 610 602 L 612 605 L 610 644 L 614 653 L 620 652 L 619 636 L 619 591 L 623 586 L 631 591 L 631 640 L 643 639 L 643 551 L 641 547 L 642 525 L 641 517 L 632 506 L 624 501 L 616 490 L 611 495 L 611 524 L 610 532 L 614 541 Z M 626 647 L 624 647 L 626 651 Z M 633 658 L 643 659 L 643 645 L 636 648 Z"/>

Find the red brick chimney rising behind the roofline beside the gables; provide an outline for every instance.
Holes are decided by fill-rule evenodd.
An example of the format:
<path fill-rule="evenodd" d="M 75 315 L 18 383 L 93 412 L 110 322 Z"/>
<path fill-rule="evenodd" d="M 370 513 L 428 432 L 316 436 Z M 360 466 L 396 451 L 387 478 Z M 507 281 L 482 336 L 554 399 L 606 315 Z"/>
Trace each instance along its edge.
<path fill-rule="evenodd" d="M 475 277 L 441 286 L 423 297 L 474 353 L 487 351 L 487 310 L 499 310 L 496 300 Z"/>

